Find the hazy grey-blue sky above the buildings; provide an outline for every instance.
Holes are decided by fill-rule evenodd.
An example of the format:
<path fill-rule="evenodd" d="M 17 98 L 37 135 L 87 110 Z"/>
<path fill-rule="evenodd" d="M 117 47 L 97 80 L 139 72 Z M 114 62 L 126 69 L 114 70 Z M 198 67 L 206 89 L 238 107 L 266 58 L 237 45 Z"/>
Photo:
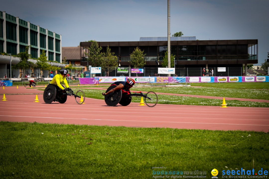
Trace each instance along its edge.
<path fill-rule="evenodd" d="M 167 36 L 167 0 L 0 0 L 0 10 L 79 42 L 139 41 Z M 171 34 L 199 40 L 258 39 L 259 64 L 269 52 L 268 0 L 171 0 Z"/>

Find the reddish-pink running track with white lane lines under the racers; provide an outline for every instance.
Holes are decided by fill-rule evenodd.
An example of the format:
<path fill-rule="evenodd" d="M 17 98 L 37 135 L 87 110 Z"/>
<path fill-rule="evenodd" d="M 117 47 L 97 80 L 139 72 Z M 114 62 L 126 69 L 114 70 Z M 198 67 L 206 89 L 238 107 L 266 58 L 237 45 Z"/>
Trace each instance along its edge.
<path fill-rule="evenodd" d="M 16 91 L 17 90 L 17 91 Z M 19 91 L 18 91 L 19 90 Z M 24 95 L 9 95 L 12 93 Z M 65 104 L 45 104 L 43 92 L 20 86 L 0 89 L 7 101 L 0 102 L 0 120 L 76 125 L 169 127 L 178 129 L 269 131 L 269 109 L 251 107 L 157 104 L 150 108 L 131 103 L 109 107 L 104 100 L 86 98 L 78 105 L 68 96 Z M 25 94 L 26 93 L 26 94 Z M 34 94 L 27 94 L 34 93 Z M 39 103 L 34 102 L 38 94 Z M 1 95 L 1 100 L 3 95 Z"/>

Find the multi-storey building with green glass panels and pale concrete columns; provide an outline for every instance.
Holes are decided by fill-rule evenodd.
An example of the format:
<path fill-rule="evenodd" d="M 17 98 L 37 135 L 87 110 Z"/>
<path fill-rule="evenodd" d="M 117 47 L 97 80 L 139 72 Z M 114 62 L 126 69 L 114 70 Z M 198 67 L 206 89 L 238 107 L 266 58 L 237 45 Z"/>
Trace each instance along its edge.
<path fill-rule="evenodd" d="M 25 52 L 26 46 L 33 58 L 44 50 L 49 61 L 62 62 L 61 35 L 0 11 L 0 53 L 16 55 Z"/>

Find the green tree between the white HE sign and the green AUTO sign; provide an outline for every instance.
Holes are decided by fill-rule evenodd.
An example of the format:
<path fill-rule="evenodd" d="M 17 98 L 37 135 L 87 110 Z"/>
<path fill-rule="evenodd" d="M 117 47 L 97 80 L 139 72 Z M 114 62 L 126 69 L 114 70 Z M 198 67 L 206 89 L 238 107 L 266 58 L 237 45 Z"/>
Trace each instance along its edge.
<path fill-rule="evenodd" d="M 115 70 L 115 67 L 118 65 L 118 57 L 114 54 L 114 52 L 111 52 L 109 46 L 107 46 L 107 52 L 104 54 L 101 63 L 102 71 L 105 71 L 107 76 L 109 76 L 109 72 Z"/>

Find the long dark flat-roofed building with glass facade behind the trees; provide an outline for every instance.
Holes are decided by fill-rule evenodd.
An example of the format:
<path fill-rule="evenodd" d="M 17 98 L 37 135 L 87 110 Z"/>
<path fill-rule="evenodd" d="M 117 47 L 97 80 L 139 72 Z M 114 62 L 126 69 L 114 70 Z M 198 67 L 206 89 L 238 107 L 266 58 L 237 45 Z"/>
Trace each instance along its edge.
<path fill-rule="evenodd" d="M 84 50 L 92 42 L 80 42 L 82 65 L 87 65 Z M 107 46 L 118 57 L 121 67 L 130 66 L 130 54 L 136 47 L 146 54 L 145 67 L 161 67 L 167 51 L 167 37 L 145 37 L 132 42 L 98 42 L 102 51 Z M 175 55 L 175 68 L 236 68 L 242 74 L 243 65 L 258 63 L 258 40 L 196 40 L 196 37 L 171 37 L 171 54 Z M 159 65 L 155 61 L 159 60 Z M 241 73 L 240 73 L 241 72 Z"/>

